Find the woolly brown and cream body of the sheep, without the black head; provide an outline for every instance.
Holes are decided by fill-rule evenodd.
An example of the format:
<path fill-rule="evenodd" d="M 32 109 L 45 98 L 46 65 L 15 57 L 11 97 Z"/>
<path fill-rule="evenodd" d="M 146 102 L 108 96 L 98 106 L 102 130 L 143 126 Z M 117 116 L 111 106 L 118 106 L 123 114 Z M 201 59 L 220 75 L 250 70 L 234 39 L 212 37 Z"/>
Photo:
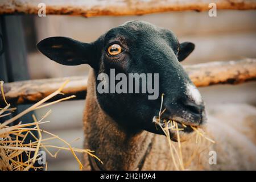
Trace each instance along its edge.
<path fill-rule="evenodd" d="M 241 121 L 243 130 L 250 130 L 246 121 Z M 181 143 L 185 169 L 237 170 L 256 169 L 256 146 L 241 130 L 216 118 L 208 119 L 208 133 L 216 140 L 196 144 L 195 138 Z M 90 71 L 84 112 L 85 148 L 96 151 L 104 162 L 101 169 L 108 170 L 173 170 L 167 139 L 141 131 L 129 135 L 100 108 L 95 90 L 95 77 Z M 177 148 L 177 143 L 174 143 Z M 210 165 L 209 151 L 216 151 L 217 164 Z M 195 153 L 194 153 L 195 152 Z M 192 156 L 195 156 L 192 158 Z M 190 162 L 189 160 L 192 160 Z M 88 156 L 84 155 L 85 169 L 90 170 Z"/>

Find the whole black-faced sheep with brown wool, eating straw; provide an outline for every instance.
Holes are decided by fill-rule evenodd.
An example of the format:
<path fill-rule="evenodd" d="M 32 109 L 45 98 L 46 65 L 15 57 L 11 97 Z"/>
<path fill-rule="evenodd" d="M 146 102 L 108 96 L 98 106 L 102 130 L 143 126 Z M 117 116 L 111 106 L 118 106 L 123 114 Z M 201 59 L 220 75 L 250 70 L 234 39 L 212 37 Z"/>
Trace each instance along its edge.
<path fill-rule="evenodd" d="M 98 76 L 101 73 L 109 76 L 110 69 L 124 75 L 159 74 L 158 92 L 164 94 L 165 108 L 161 118 L 174 120 L 183 129 L 179 133 L 185 140 L 182 150 L 186 169 L 256 169 L 256 147 L 249 138 L 228 123 L 213 119 L 206 122 L 201 94 L 179 63 L 195 45 L 179 43 L 170 30 L 130 21 L 112 28 L 92 43 L 52 37 L 37 46 L 57 63 L 92 67 L 84 110 L 84 147 L 96 151 L 104 163 L 84 155 L 85 169 L 175 169 L 166 137 L 152 122 L 159 115 L 161 98 L 150 100 L 148 93 L 99 93 L 97 88 L 105 78 L 98 79 Z M 108 86 L 105 83 L 104 89 Z M 245 123 L 241 125 L 246 127 Z M 216 144 L 206 140 L 196 144 L 191 126 L 204 127 Z M 176 131 L 170 133 L 170 138 L 176 141 Z M 210 164 L 210 151 L 216 152 L 217 164 Z M 191 158 L 194 160 L 190 161 Z"/>

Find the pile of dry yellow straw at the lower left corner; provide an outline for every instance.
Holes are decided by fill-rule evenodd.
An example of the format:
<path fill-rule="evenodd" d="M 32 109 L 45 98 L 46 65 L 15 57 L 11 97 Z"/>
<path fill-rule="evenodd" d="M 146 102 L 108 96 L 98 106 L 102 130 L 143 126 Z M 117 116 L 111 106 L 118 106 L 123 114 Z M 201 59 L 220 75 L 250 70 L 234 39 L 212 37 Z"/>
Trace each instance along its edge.
<path fill-rule="evenodd" d="M 35 167 L 35 163 L 37 160 L 39 160 L 40 156 L 39 150 L 44 150 L 52 156 L 53 158 L 57 157 L 57 154 L 60 150 L 67 150 L 72 153 L 74 158 L 77 160 L 77 163 L 79 164 L 80 169 L 83 168 L 82 163 L 80 162 L 79 158 L 77 158 L 76 152 L 80 153 L 86 153 L 93 158 L 96 158 L 101 162 L 99 158 L 97 158 L 96 155 L 93 155 L 92 153 L 94 151 L 91 151 L 89 149 L 80 149 L 80 148 L 74 148 L 71 146 L 70 143 L 65 141 L 64 139 L 61 139 L 55 134 L 49 133 L 48 131 L 42 130 L 39 126 L 47 123 L 49 121 L 44 121 L 44 119 L 51 113 L 51 110 L 49 110 L 39 121 L 35 117 L 35 115 L 32 115 L 32 118 L 34 121 L 31 123 L 23 124 L 22 121 L 20 121 L 18 124 L 14 125 L 14 121 L 18 120 L 23 115 L 29 113 L 30 111 L 40 109 L 42 107 L 46 107 L 52 104 L 56 104 L 57 102 L 61 102 L 64 100 L 68 100 L 70 98 L 73 98 L 75 96 L 69 96 L 62 98 L 57 101 L 49 102 L 48 104 L 44 104 L 46 101 L 51 99 L 52 97 L 56 96 L 57 94 L 63 94 L 61 93 L 61 90 L 63 90 L 64 86 L 68 84 L 68 80 L 64 82 L 63 85 L 60 86 L 58 90 L 47 96 L 46 98 L 43 98 L 43 100 L 37 102 L 36 104 L 32 105 L 28 109 L 22 111 L 21 113 L 15 115 L 15 117 L 12 117 L 10 119 L 7 119 L 5 122 L 0 123 L 0 170 L 16 170 L 16 171 L 27 171 L 29 169 L 43 169 L 43 167 Z M 7 103 L 5 98 L 5 93 L 3 92 L 3 81 L 0 81 L 0 87 L 1 87 L 1 93 L 3 100 L 5 102 L 5 107 L 0 108 L 0 118 L 5 118 L 7 115 L 10 115 L 11 112 L 15 110 L 15 108 L 11 108 L 11 105 Z M 13 126 L 9 126 L 10 124 L 13 124 Z M 32 131 L 38 132 L 38 137 L 36 137 Z M 42 138 L 42 133 L 49 135 L 48 138 Z M 31 135 L 35 141 L 30 143 L 25 143 L 24 141 L 28 137 L 28 135 Z M 51 140 L 60 140 L 64 143 L 64 146 L 53 146 L 49 144 Z M 52 151 L 54 150 L 54 152 Z M 27 156 L 27 160 L 23 161 L 22 155 Z M 102 163 L 102 162 L 101 162 Z M 46 163 L 44 169 L 47 170 L 48 164 Z"/>

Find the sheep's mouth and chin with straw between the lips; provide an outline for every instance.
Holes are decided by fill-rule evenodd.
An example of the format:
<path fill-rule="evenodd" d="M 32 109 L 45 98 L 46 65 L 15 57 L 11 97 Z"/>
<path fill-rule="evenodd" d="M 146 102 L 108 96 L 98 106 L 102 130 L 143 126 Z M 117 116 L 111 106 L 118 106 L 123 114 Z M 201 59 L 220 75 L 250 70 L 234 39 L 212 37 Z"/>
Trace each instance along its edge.
<path fill-rule="evenodd" d="M 175 142 L 177 142 L 177 130 L 179 131 L 180 141 L 183 142 L 185 140 L 188 140 L 189 137 L 191 137 L 191 134 L 193 133 L 193 131 L 201 127 L 197 123 L 193 124 L 191 122 L 181 121 L 177 119 L 170 119 L 170 118 L 158 119 L 158 117 L 154 117 L 153 122 L 156 124 L 157 130 L 163 130 L 168 127 L 170 138 Z M 175 123 L 177 123 L 177 125 Z"/>

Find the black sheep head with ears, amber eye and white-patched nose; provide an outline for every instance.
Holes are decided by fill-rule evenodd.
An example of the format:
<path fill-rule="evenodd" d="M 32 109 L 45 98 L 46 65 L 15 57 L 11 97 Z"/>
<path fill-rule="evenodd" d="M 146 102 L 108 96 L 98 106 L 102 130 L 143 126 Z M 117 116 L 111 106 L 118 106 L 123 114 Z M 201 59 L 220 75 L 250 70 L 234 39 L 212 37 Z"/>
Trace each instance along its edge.
<path fill-rule="evenodd" d="M 188 127 L 184 128 L 183 133 L 188 134 L 192 132 L 189 125 L 201 126 L 205 122 L 201 95 L 179 63 L 194 47 L 193 43 L 179 43 L 173 32 L 142 21 L 131 21 L 113 28 L 93 43 L 53 37 L 38 44 L 39 50 L 57 63 L 89 64 L 94 69 L 97 101 L 121 128 L 130 133 L 147 130 L 156 134 L 163 134 L 152 122 L 159 115 L 162 94 L 162 108 L 165 111 L 160 124 L 164 123 L 163 119 L 172 119 L 177 121 L 179 128 L 184 128 L 184 123 Z M 121 75 L 112 78 L 113 72 L 114 75 Z M 147 84 L 156 88 L 156 97 L 150 99 L 148 96 L 152 93 L 142 93 L 145 90 L 143 84 L 138 86 L 141 92 L 129 92 L 131 73 L 139 76 L 144 74 Z M 148 83 L 148 74 L 157 79 L 151 75 L 154 78 L 151 77 L 152 82 Z M 119 84 L 121 92 L 111 90 L 112 85 L 115 89 L 125 77 L 126 82 L 122 82 L 122 86 Z M 140 79 L 139 83 L 142 83 L 142 77 Z M 106 92 L 98 92 L 101 86 Z M 126 86 L 127 90 L 123 89 Z M 131 90 L 134 91 L 133 86 Z M 171 138 L 176 138 L 172 131 Z"/>

